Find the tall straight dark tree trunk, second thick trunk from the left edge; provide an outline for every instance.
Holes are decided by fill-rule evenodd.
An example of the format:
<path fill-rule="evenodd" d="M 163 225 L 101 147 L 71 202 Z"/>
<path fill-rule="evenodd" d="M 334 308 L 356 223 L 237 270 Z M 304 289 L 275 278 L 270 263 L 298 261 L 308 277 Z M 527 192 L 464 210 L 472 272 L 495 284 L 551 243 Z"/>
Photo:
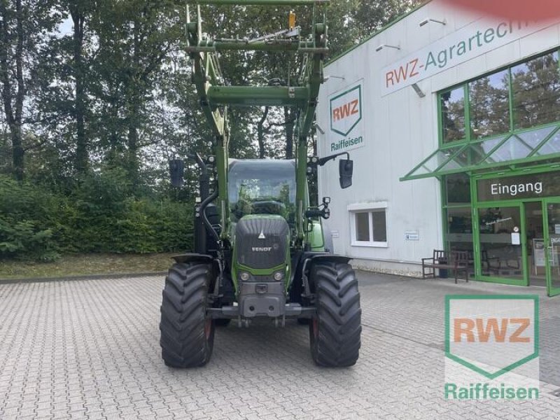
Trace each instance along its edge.
<path fill-rule="evenodd" d="M 74 5 L 70 8 L 74 31 L 73 31 L 73 61 L 74 77 L 76 78 L 76 97 L 74 99 L 74 118 L 76 120 L 76 172 L 83 174 L 87 171 L 89 164 L 87 139 L 85 137 L 85 92 L 83 71 L 83 31 L 85 16 L 80 6 Z"/>

